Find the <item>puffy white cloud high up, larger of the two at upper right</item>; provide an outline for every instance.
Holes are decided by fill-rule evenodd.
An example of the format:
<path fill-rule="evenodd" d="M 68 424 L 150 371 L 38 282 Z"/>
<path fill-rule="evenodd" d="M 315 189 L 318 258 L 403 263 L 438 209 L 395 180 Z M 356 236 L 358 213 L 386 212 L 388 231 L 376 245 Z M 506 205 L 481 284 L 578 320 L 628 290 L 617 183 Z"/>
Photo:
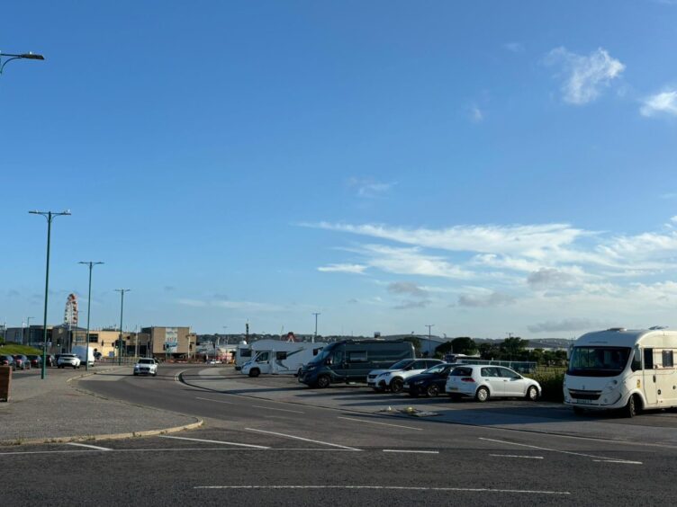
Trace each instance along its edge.
<path fill-rule="evenodd" d="M 601 89 L 609 86 L 625 69 L 625 65 L 611 58 L 609 52 L 602 48 L 592 51 L 588 56 L 556 48 L 548 53 L 546 63 L 562 65 L 565 74 L 562 85 L 564 102 L 576 105 L 597 99 Z"/>

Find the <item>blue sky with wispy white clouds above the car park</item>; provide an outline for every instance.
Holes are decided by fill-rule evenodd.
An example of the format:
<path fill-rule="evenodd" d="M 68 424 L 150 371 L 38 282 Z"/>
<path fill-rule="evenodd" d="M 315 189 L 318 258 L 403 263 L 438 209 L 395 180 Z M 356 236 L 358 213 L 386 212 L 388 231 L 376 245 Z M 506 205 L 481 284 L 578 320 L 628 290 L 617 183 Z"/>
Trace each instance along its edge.
<path fill-rule="evenodd" d="M 0 321 L 677 325 L 677 2 L 18 2 Z M 84 313 L 81 322 L 84 323 Z M 224 330 L 224 326 L 228 326 Z"/>

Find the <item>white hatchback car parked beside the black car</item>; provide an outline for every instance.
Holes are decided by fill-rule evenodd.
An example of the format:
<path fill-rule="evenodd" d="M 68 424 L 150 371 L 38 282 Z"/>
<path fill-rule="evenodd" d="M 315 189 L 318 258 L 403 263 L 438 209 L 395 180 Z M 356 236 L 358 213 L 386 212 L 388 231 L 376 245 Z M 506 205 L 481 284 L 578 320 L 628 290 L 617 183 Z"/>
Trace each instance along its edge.
<path fill-rule="evenodd" d="M 503 366 L 468 364 L 458 366 L 449 373 L 447 395 L 451 398 L 472 396 L 479 402 L 490 397 L 526 397 L 536 401 L 541 396 L 541 386 L 532 378 Z"/>

